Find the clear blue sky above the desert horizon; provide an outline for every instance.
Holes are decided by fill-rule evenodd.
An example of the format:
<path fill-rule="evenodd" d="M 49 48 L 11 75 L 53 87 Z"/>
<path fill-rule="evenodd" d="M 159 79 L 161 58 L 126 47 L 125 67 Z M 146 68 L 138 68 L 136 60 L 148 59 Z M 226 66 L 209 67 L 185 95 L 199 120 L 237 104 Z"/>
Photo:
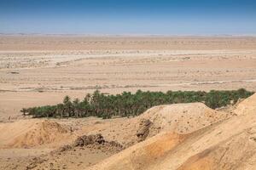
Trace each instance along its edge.
<path fill-rule="evenodd" d="M 256 0 L 0 0 L 0 32 L 256 34 Z"/>

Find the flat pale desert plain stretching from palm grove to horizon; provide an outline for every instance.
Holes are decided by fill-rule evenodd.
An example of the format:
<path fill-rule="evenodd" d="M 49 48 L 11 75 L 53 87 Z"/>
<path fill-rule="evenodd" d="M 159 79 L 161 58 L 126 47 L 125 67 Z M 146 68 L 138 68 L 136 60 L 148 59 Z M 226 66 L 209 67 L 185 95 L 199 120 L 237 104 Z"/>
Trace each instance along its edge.
<path fill-rule="evenodd" d="M 96 89 L 256 90 L 255 75 L 255 37 L 2 35 L 0 121 Z"/>

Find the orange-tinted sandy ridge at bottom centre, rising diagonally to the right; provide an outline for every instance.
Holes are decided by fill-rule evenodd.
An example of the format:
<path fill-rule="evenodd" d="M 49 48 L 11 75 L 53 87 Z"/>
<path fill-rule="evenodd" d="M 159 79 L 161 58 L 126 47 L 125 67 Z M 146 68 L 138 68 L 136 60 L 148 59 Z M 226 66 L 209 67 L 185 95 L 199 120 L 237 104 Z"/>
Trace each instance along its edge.
<path fill-rule="evenodd" d="M 151 139 L 111 156 L 89 169 L 146 169 L 155 159 L 164 156 L 178 144 L 186 135 L 177 133 L 161 133 Z"/>

